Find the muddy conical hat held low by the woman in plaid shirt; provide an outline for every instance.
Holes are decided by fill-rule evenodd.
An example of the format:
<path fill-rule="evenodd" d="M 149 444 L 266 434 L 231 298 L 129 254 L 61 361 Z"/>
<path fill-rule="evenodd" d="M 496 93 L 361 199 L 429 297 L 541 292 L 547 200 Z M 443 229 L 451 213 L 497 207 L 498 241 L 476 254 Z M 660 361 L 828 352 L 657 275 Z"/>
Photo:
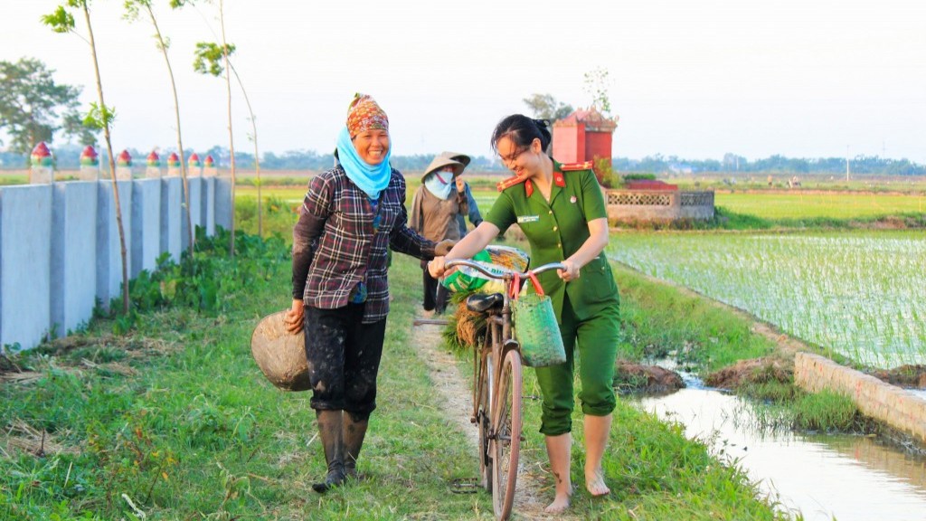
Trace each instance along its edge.
<path fill-rule="evenodd" d="M 306 336 L 286 330 L 286 311 L 264 317 L 251 336 L 251 354 L 271 384 L 283 390 L 311 388 L 308 381 Z"/>

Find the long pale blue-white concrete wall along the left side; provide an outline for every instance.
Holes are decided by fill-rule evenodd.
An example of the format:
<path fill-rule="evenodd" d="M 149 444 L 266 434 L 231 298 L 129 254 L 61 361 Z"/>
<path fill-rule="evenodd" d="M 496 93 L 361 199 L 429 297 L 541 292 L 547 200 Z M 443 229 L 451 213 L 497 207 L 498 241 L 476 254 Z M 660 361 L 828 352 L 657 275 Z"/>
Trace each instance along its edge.
<path fill-rule="evenodd" d="M 206 193 L 202 178 L 190 181 L 194 225 L 231 223 L 231 205 L 215 197 L 231 194 L 231 181 L 210 179 Z M 181 196 L 180 178 L 119 181 L 130 275 L 156 267 L 163 251 L 180 260 Z M 95 299 L 119 298 L 121 284 L 111 181 L 0 187 L 0 347 L 69 334 L 90 321 Z"/>

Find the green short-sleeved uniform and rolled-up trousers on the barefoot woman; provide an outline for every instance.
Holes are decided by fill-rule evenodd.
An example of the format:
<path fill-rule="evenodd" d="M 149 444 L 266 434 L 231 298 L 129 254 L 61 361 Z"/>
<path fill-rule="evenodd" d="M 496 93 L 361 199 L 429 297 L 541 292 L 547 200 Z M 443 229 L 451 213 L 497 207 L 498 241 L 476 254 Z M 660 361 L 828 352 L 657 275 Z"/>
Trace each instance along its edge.
<path fill-rule="evenodd" d="M 564 172 L 564 170 L 566 172 Z M 507 187 L 485 220 L 501 231 L 517 222 L 531 244 L 532 266 L 565 261 L 589 237 L 588 222 L 606 218 L 605 199 L 594 172 L 572 170 L 554 161 L 550 200 L 530 181 Z M 571 430 L 575 349 L 579 350 L 582 412 L 605 416 L 614 410 L 612 387 L 619 341 L 619 297 L 605 253 L 582 266 L 581 276 L 564 283 L 556 271 L 538 275 L 553 300 L 566 347 L 566 362 L 538 367 L 544 394 L 540 431 L 558 436 Z"/>

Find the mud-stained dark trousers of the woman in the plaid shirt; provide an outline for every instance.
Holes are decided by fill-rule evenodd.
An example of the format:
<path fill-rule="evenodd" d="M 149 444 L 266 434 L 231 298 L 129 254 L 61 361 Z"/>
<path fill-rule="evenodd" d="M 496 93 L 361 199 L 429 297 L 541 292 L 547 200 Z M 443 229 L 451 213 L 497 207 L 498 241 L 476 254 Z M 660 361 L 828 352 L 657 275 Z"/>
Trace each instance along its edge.
<path fill-rule="evenodd" d="M 357 421 L 376 409 L 386 319 L 363 324 L 364 304 L 322 310 L 306 306 L 306 357 L 312 409 L 344 410 Z"/>

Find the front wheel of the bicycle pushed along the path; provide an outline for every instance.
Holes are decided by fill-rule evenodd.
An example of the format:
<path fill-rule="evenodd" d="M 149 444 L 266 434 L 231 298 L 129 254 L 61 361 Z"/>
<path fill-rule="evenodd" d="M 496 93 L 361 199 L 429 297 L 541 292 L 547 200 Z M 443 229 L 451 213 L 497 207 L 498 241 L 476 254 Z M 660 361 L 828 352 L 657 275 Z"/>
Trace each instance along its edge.
<path fill-rule="evenodd" d="M 495 397 L 492 415 L 494 429 L 492 499 L 495 517 L 507 519 L 511 514 L 515 486 L 518 482 L 521 436 L 521 363 L 520 354 L 515 349 L 509 350 L 502 362 Z"/>

